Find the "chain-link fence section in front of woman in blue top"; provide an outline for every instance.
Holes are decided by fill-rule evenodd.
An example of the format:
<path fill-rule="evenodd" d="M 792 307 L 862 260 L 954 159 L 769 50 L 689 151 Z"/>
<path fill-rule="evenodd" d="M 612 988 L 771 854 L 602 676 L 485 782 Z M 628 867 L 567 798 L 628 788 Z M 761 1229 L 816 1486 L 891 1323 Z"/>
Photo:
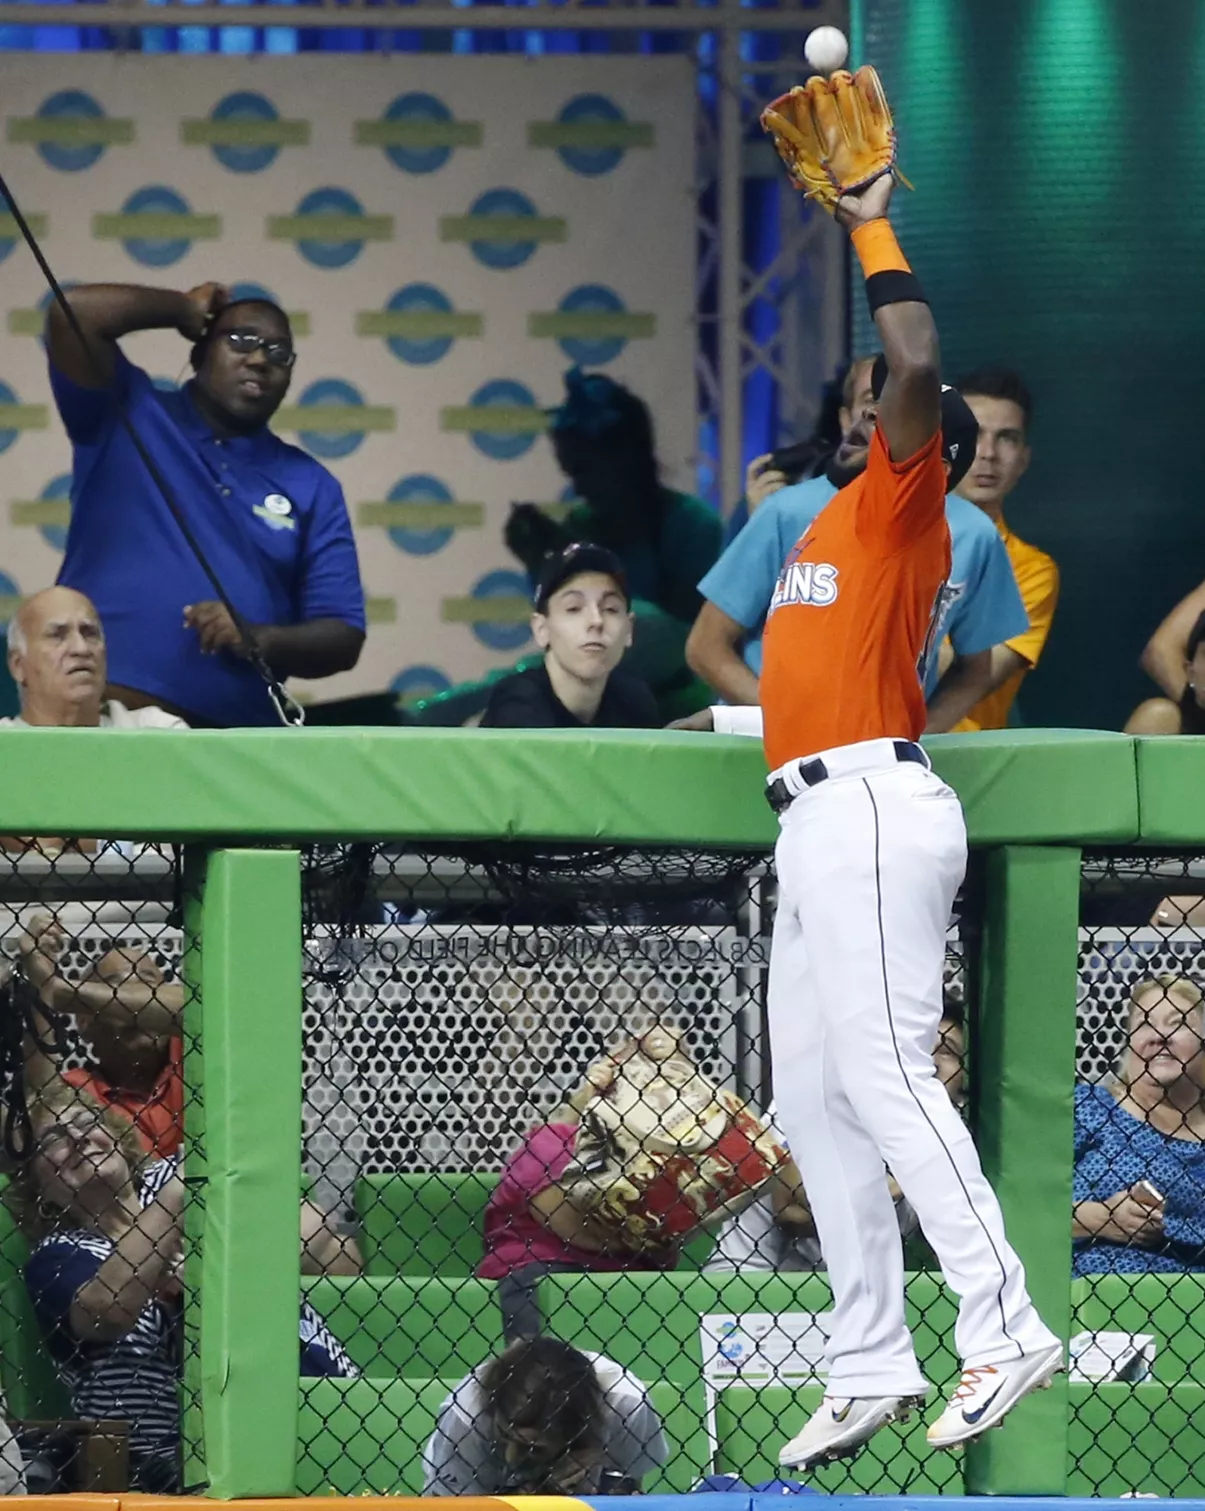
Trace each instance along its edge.
<path fill-rule="evenodd" d="M 1084 860 L 1070 1484 L 1200 1494 L 1205 861 Z"/>

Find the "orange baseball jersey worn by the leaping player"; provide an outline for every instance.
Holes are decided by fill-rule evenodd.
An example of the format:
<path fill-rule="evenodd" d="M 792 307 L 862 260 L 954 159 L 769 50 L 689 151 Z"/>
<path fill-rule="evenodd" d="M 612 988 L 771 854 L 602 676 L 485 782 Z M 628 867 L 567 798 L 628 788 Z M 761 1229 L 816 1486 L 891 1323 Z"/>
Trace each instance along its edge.
<path fill-rule="evenodd" d="M 762 641 L 770 769 L 859 740 L 919 739 L 922 668 L 949 576 L 940 434 L 894 462 L 881 432 L 866 470 L 800 536 Z"/>

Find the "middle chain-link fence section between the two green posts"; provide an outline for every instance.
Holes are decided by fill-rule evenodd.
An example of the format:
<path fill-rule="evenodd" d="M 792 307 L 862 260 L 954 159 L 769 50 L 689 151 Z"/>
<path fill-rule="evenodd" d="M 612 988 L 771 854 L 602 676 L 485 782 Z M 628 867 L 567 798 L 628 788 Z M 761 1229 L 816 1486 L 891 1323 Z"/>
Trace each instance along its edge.
<path fill-rule="evenodd" d="M 308 1200 L 358 1260 L 345 1242 L 348 1272 L 305 1292 L 358 1378 L 302 1381 L 299 1491 L 779 1473 L 822 1393 L 830 1292 L 776 1166 L 773 917 L 764 854 L 516 842 L 383 848 L 354 925 L 307 929 Z M 951 931 L 937 1050 L 960 1103 L 977 920 Z M 903 1200 L 900 1225 L 948 1389 L 953 1304 Z M 627 1423 L 602 1460 L 599 1380 Z M 919 1417 L 806 1478 L 962 1487 Z"/>

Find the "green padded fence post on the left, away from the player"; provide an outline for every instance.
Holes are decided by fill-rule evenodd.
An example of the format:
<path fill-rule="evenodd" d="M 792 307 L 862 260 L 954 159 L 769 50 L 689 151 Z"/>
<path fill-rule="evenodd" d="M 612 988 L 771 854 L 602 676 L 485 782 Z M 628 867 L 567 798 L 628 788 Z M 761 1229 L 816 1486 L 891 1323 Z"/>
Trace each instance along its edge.
<path fill-rule="evenodd" d="M 301 864 L 213 851 L 200 904 L 207 1493 L 292 1496 L 301 1293 Z"/>

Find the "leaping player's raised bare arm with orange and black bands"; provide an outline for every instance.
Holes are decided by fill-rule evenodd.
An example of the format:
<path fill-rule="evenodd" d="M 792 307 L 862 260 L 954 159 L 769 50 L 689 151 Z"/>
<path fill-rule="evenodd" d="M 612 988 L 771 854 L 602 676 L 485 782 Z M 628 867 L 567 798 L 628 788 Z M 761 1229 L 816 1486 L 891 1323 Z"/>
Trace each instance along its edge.
<path fill-rule="evenodd" d="M 862 264 L 887 364 L 878 429 L 891 459 L 903 462 L 940 429 L 942 379 L 933 311 L 887 219 L 894 187 L 894 178 L 884 174 L 859 193 L 842 195 L 836 218 L 850 231 Z"/>

